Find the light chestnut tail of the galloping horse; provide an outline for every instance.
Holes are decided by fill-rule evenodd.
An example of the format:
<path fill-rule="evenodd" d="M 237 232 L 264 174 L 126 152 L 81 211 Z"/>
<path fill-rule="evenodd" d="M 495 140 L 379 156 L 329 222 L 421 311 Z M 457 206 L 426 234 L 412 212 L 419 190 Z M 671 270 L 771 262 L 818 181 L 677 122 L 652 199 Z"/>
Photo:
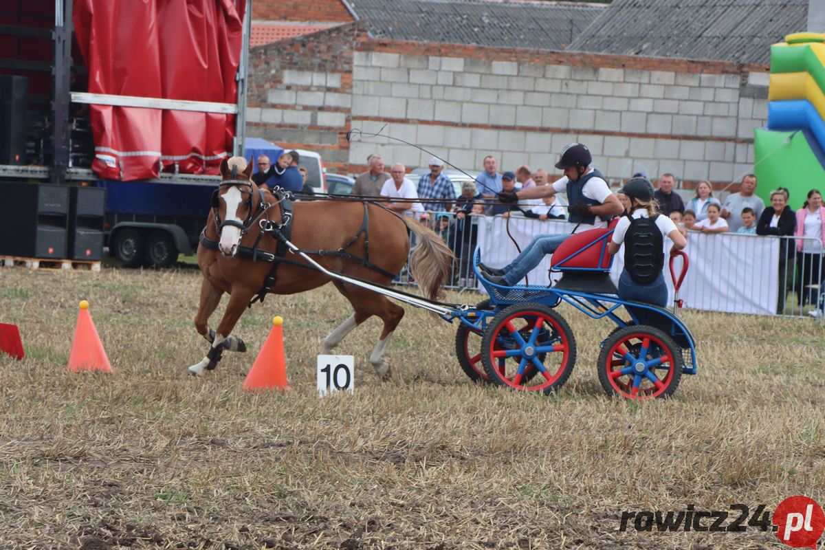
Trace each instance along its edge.
<path fill-rule="evenodd" d="M 410 271 L 419 287 L 429 299 L 439 299 L 444 295 L 444 284 L 450 275 L 450 267 L 455 254 L 432 229 L 406 216 L 399 216 L 407 227 L 418 237 L 418 244 L 410 255 Z"/>

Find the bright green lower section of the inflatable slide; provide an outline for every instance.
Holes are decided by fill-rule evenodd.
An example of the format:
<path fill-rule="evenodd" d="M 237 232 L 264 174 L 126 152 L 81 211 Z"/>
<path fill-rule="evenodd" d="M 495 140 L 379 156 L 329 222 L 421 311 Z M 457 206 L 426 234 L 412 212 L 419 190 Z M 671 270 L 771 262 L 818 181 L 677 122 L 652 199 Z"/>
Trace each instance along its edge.
<path fill-rule="evenodd" d="M 790 190 L 788 205 L 797 210 L 802 208 L 809 190 L 823 188 L 825 169 L 802 132 L 756 129 L 753 150 L 759 181 L 757 195 L 765 204 L 771 204 L 772 190 L 787 187 Z"/>

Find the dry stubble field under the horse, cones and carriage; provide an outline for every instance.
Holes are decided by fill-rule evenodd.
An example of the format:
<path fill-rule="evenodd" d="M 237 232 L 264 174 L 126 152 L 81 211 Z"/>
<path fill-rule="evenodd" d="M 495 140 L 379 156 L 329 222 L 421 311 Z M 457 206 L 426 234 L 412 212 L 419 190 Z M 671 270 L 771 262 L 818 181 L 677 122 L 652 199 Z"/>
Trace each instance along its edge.
<path fill-rule="evenodd" d="M 821 322 L 688 311 L 699 374 L 634 403 L 596 378 L 610 326 L 569 308 L 577 366 L 551 397 L 470 383 L 455 327 L 407 308 L 394 379 L 367 362 L 370 320 L 337 350 L 355 395 L 319 399 L 316 355 L 350 314 L 331 285 L 248 310 L 249 352 L 191 378 L 199 289 L 196 270 L 0 270 L 0 322 L 26 347 L 0 357 L 0 548 L 788 548 L 756 527 L 620 532 L 620 515 L 823 503 Z M 80 299 L 114 374 L 66 369 Z M 246 393 L 276 314 L 293 391 Z"/>

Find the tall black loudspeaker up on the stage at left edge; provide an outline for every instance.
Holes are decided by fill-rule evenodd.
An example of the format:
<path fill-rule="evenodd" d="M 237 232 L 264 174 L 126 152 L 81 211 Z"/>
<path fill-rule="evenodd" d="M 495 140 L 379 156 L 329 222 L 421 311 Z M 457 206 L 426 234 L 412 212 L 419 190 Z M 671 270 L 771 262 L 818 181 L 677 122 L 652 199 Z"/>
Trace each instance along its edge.
<path fill-rule="evenodd" d="M 29 79 L 0 74 L 0 164 L 26 164 Z"/>

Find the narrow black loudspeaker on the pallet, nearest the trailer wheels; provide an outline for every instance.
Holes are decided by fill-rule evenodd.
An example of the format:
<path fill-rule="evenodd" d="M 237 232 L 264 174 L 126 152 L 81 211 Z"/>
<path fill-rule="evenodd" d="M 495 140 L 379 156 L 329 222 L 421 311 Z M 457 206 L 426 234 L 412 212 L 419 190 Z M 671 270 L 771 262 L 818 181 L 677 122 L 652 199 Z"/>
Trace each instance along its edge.
<path fill-rule="evenodd" d="M 70 187 L 68 257 L 100 261 L 103 257 L 103 214 L 106 190 L 102 187 Z"/>

